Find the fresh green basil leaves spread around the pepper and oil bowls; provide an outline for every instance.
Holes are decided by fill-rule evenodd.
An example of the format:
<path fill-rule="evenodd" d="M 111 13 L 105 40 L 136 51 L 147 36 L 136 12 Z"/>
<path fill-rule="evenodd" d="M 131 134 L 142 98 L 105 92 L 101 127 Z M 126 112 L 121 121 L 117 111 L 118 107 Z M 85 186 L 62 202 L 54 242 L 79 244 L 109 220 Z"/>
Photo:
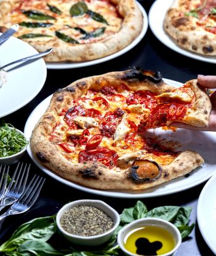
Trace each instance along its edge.
<path fill-rule="evenodd" d="M 139 218 L 156 217 L 167 220 L 175 224 L 180 230 L 181 237 L 188 236 L 194 228 L 194 224 L 188 226 L 191 207 L 165 206 L 157 207 L 150 211 L 147 210 L 143 202 L 138 201 L 135 207 L 127 208 L 120 215 L 120 226 L 110 237 L 109 241 L 100 245 L 98 250 L 85 251 L 83 247 L 73 248 L 71 244 L 65 244 L 57 249 L 57 244 L 52 242 L 52 236 L 56 236 L 58 241 L 61 239 L 56 232 L 55 216 L 37 218 L 22 224 L 10 237 L 10 239 L 0 246 L 0 252 L 9 256 L 111 256 L 119 255 L 120 248 L 117 245 L 118 231 L 131 221 Z M 50 240 L 49 240 L 50 239 Z M 60 243 L 59 243 L 60 245 Z M 65 248 L 66 247 L 66 248 Z"/>

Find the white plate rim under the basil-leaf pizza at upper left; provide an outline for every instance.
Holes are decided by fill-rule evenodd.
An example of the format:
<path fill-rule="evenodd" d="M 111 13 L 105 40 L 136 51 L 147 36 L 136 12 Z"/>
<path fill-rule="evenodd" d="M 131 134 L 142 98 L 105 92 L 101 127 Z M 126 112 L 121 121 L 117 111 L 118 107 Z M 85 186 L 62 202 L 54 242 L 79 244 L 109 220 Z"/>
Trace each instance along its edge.
<path fill-rule="evenodd" d="M 46 67 L 48 69 L 75 69 L 77 67 L 86 67 L 86 66 L 92 66 L 95 64 L 99 64 L 105 61 L 110 61 L 110 59 L 117 58 L 118 56 L 127 53 L 127 51 L 130 51 L 130 49 L 134 48 L 144 37 L 147 31 L 148 27 L 148 22 L 147 22 L 147 14 L 146 11 L 143 9 L 143 6 L 137 2 L 139 9 L 141 10 L 143 14 L 143 29 L 141 33 L 138 35 L 138 37 L 133 40 L 130 45 L 127 47 L 121 49 L 117 53 L 111 54 L 109 56 L 106 56 L 101 59 L 94 59 L 93 61 L 85 61 L 85 62 L 59 62 L 59 63 L 52 63 L 52 62 L 47 62 Z"/>

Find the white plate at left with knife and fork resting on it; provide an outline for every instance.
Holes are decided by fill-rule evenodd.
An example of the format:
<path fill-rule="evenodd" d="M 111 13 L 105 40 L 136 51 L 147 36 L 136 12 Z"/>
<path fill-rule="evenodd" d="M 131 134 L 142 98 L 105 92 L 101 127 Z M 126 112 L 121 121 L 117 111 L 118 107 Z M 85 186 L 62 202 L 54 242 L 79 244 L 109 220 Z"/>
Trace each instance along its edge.
<path fill-rule="evenodd" d="M 37 54 L 27 43 L 11 37 L 0 46 L 0 67 L 17 59 Z M 39 93 L 46 80 L 46 64 L 43 59 L 25 66 L 16 64 L 17 69 L 7 67 L 7 82 L 0 88 L 0 117 L 7 116 L 27 105 Z"/>

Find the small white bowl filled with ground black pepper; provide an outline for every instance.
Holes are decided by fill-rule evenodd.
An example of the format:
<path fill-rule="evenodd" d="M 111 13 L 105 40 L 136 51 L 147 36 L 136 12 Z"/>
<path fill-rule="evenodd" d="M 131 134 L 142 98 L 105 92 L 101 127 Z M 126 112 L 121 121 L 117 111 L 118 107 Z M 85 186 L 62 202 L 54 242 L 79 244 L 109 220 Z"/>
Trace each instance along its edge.
<path fill-rule="evenodd" d="M 114 221 L 113 228 L 107 231 L 106 233 L 99 234 L 98 236 L 86 237 L 86 236 L 77 236 L 77 235 L 68 233 L 62 228 L 62 226 L 60 226 L 60 217 L 65 211 L 78 205 L 89 205 L 104 211 L 104 213 L 110 216 L 110 218 L 112 218 L 112 220 Z M 107 205 L 107 203 L 104 203 L 101 200 L 86 199 L 86 200 L 77 200 L 71 203 L 67 203 L 67 205 L 64 205 L 64 207 L 60 208 L 56 216 L 57 227 L 59 228 L 59 231 L 63 234 L 65 238 L 67 238 L 70 242 L 73 242 L 74 244 L 87 245 L 87 246 L 95 246 L 95 245 L 100 245 L 100 244 L 104 244 L 104 242 L 107 242 L 109 238 L 112 236 L 112 234 L 114 233 L 115 229 L 118 227 L 119 223 L 120 223 L 120 216 L 118 215 L 117 211 L 115 211 L 114 208 L 110 207 L 109 205 Z"/>

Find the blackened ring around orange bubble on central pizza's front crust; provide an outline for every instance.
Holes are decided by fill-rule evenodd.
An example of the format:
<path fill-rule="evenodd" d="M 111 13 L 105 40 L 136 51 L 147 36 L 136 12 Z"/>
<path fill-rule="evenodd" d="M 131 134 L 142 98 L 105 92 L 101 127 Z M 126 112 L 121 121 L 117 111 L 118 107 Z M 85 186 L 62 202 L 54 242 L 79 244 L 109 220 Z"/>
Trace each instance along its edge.
<path fill-rule="evenodd" d="M 162 168 L 160 168 L 160 166 L 155 161 L 149 160 L 149 162 L 156 164 L 157 168 L 159 169 L 159 174 L 157 175 L 157 177 L 154 177 L 154 178 L 145 177 L 141 179 L 137 173 L 137 170 L 139 168 L 138 165 L 131 166 L 131 168 L 129 169 L 130 173 L 128 174 L 128 177 L 132 179 L 132 181 L 135 182 L 136 184 L 142 184 L 144 182 L 152 182 L 159 179 L 162 173 Z"/>

